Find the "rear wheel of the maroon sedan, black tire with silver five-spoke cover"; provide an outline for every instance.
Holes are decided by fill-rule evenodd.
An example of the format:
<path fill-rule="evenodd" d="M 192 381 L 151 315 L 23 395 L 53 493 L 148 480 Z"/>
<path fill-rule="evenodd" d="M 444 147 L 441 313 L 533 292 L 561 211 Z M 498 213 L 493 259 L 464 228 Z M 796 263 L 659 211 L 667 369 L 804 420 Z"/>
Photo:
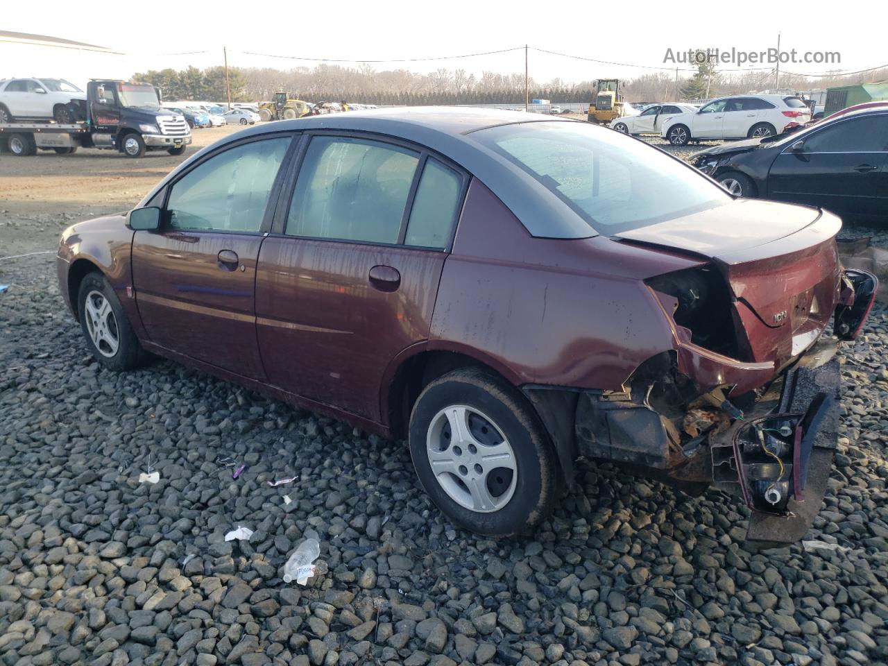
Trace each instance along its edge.
<path fill-rule="evenodd" d="M 463 447 L 451 440 L 445 411 L 449 407 L 466 408 L 464 413 L 472 415 L 465 418 L 470 439 L 462 440 Z M 445 423 L 437 425 L 442 419 Z M 452 459 L 458 464 L 456 472 L 432 472 L 428 447 L 435 437 L 450 442 L 447 448 L 432 451 L 455 456 Z M 485 444 L 510 448 L 506 456 L 511 455 L 508 460 L 513 460 L 514 470 L 494 467 L 494 463 L 480 459 Z M 558 467 L 549 437 L 527 400 L 492 373 L 456 369 L 427 385 L 410 415 L 409 446 L 416 475 L 426 493 L 460 527 L 480 535 L 518 535 L 533 529 L 551 513 L 557 496 Z M 484 468 L 478 462 L 489 466 Z M 473 484 L 476 491 L 492 502 L 487 511 L 473 511 L 451 496 L 456 491 L 468 502 L 475 497 L 459 474 L 470 484 L 472 480 L 477 482 Z M 445 489 L 442 483 L 449 484 L 453 491 Z M 498 502 L 502 506 L 496 506 Z"/>

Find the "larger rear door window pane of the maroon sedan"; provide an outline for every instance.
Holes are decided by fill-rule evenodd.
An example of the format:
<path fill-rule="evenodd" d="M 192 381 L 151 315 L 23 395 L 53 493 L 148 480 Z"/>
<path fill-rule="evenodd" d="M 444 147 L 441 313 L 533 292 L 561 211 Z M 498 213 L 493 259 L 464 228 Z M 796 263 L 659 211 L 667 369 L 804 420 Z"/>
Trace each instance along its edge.
<path fill-rule="evenodd" d="M 396 243 L 419 155 L 379 141 L 314 137 L 299 170 L 286 234 Z"/>

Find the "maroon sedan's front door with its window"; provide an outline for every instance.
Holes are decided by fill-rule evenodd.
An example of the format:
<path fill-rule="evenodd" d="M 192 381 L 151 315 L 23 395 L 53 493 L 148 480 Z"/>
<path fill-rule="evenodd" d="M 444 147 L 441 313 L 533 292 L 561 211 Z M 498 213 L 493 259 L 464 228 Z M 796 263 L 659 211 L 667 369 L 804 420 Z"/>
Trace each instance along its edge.
<path fill-rule="evenodd" d="M 256 342 L 256 267 L 290 140 L 254 140 L 211 155 L 169 186 L 162 228 L 135 234 L 133 286 L 151 342 L 244 377 L 265 377 Z"/>

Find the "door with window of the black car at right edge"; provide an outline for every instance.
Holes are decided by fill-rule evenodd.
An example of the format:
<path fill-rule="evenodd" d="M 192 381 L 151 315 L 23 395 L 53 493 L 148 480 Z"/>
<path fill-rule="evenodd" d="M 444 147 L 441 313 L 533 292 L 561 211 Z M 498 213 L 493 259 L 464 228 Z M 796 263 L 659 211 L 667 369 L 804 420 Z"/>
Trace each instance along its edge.
<path fill-rule="evenodd" d="M 829 123 L 786 147 L 771 166 L 768 196 L 822 206 L 846 216 L 874 215 L 885 205 L 888 115 Z"/>

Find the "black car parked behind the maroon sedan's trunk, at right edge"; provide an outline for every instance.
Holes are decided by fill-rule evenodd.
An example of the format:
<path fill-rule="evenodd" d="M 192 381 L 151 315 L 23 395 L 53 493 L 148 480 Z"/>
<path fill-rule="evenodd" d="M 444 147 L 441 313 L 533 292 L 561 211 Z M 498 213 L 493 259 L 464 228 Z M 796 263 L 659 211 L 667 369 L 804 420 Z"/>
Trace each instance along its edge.
<path fill-rule="evenodd" d="M 707 148 L 692 163 L 738 196 L 888 221 L 888 108 L 861 109 L 805 130 Z"/>

